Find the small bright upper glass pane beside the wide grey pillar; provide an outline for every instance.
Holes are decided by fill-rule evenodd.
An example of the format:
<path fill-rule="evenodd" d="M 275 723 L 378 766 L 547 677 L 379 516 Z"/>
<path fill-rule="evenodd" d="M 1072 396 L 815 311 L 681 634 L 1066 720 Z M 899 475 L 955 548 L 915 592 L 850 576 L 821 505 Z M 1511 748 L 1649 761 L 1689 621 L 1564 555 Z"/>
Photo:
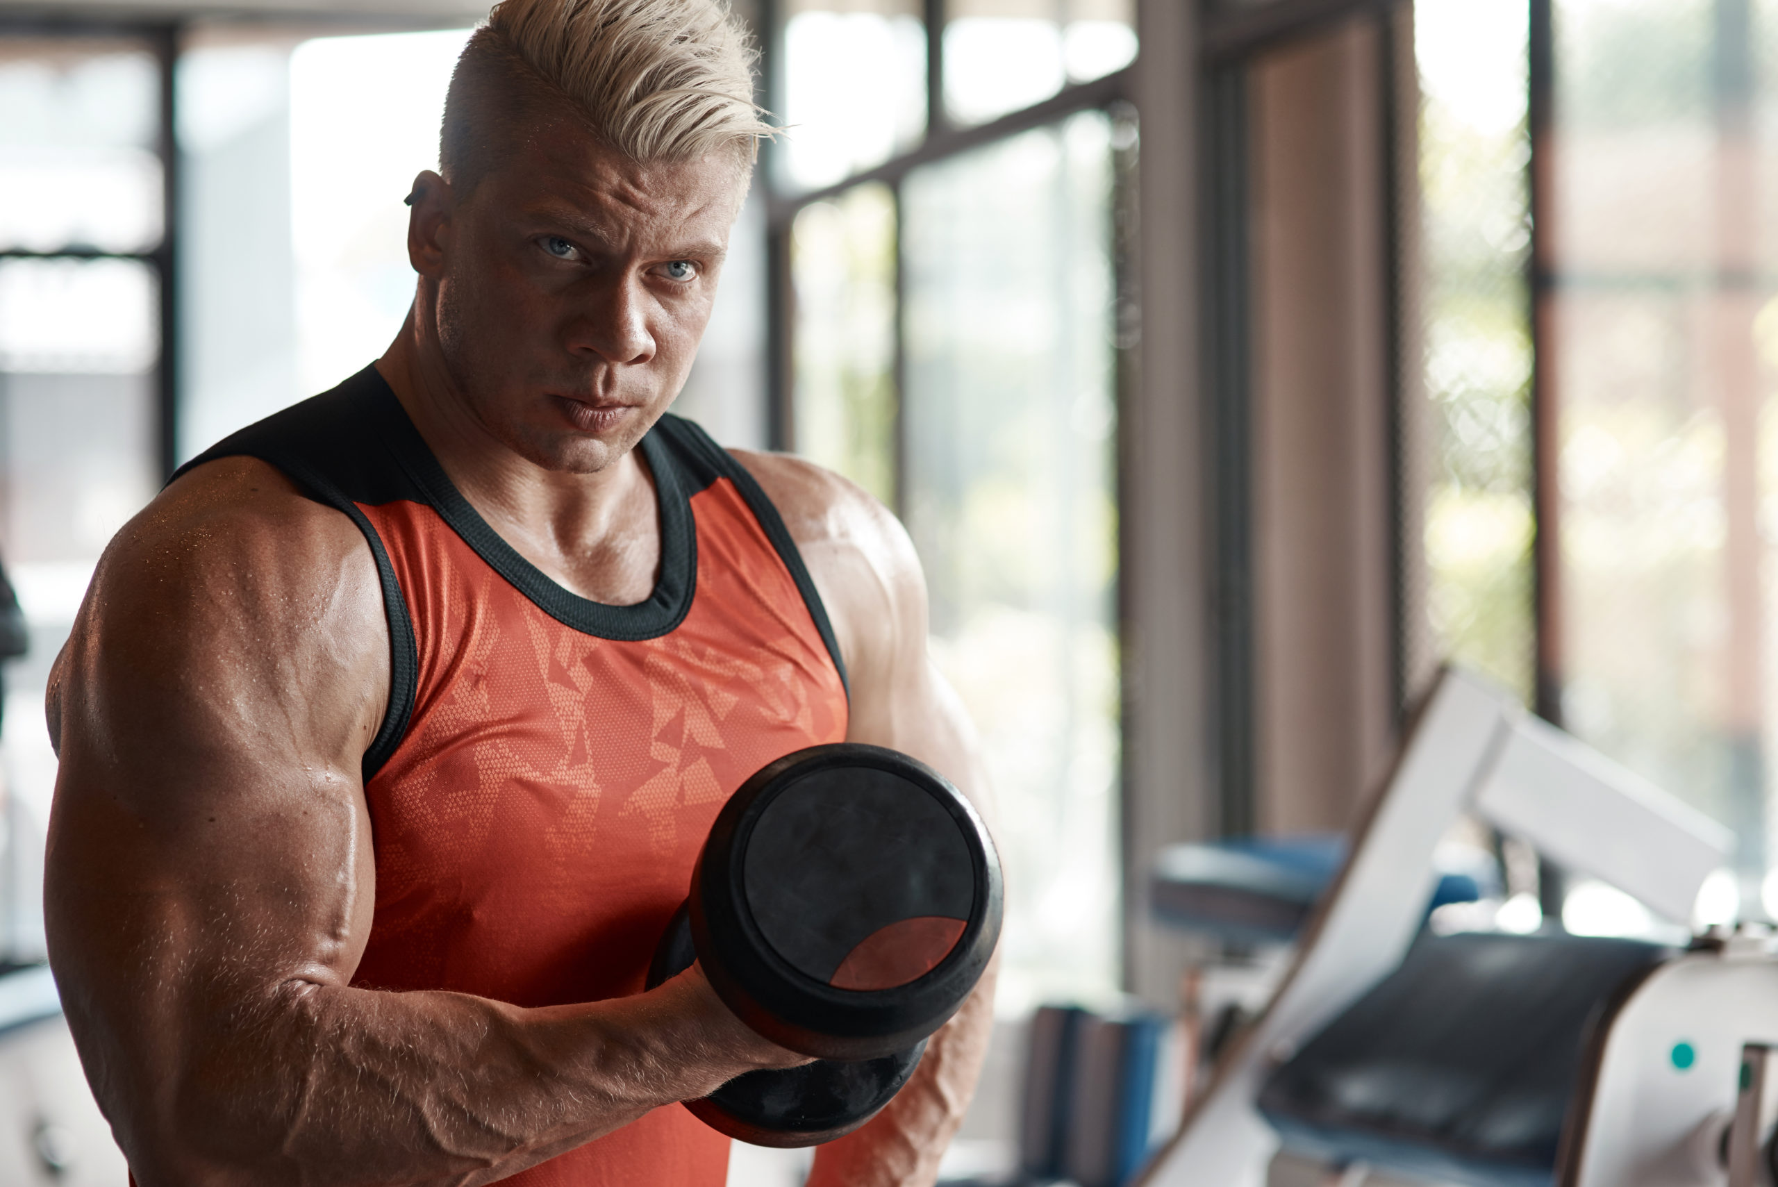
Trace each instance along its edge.
<path fill-rule="evenodd" d="M 1102 78 L 1136 59 L 1134 0 L 955 0 L 944 107 L 976 124 Z"/>

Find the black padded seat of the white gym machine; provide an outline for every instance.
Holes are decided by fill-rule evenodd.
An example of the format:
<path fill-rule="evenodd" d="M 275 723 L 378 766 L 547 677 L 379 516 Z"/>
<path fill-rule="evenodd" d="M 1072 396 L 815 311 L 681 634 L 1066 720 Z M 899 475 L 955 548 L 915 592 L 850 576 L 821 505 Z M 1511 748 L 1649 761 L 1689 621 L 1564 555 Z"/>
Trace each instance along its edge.
<path fill-rule="evenodd" d="M 1549 1187 L 1588 1025 L 1673 949 L 1422 935 L 1259 1109 L 1291 1150 L 1472 1187 Z"/>

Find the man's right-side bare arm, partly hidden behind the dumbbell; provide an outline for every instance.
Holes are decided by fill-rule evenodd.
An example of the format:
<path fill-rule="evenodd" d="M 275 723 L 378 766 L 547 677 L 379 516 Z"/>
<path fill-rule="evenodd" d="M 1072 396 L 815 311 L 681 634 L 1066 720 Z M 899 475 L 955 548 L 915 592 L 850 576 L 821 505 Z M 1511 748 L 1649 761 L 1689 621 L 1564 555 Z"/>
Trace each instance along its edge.
<path fill-rule="evenodd" d="M 891 746 L 946 775 L 992 826 L 981 753 L 926 652 L 926 581 L 907 531 L 880 503 L 816 466 L 740 453 L 777 505 L 846 659 L 846 741 Z M 932 1036 L 907 1087 L 869 1125 L 821 1146 L 811 1187 L 928 1187 L 962 1125 L 994 1024 L 994 965 Z"/>

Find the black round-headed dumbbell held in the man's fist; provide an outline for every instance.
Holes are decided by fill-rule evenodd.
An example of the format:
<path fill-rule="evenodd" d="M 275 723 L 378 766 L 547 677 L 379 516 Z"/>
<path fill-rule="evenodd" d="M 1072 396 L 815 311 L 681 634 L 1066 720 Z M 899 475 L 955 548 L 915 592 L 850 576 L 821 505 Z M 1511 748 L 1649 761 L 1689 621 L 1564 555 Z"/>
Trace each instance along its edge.
<path fill-rule="evenodd" d="M 741 1022 L 816 1063 L 686 1107 L 757 1146 L 850 1134 L 914 1075 L 999 926 L 994 840 L 942 775 L 861 743 L 766 764 L 717 816 L 647 986 L 697 960 Z"/>

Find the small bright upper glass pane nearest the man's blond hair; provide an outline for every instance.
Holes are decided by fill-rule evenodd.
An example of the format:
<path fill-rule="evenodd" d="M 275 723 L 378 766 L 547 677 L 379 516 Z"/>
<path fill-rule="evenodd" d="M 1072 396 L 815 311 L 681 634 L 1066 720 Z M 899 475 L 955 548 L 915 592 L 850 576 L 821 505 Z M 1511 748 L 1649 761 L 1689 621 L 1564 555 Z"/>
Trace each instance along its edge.
<path fill-rule="evenodd" d="M 791 0 L 779 160 L 814 188 L 882 163 L 926 130 L 919 0 Z"/>

